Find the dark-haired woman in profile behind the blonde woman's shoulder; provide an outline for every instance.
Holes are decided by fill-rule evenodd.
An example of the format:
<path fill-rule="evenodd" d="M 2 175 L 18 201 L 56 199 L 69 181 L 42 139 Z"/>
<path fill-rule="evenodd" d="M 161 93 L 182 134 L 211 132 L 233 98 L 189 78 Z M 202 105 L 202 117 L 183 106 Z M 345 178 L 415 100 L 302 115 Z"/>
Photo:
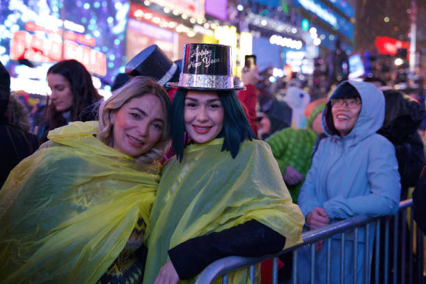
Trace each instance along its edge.
<path fill-rule="evenodd" d="M 47 82 L 52 94 L 47 99 L 45 118 L 38 126 L 39 139 L 47 141 L 50 130 L 72 121 L 97 119 L 94 103 L 102 96 L 93 86 L 90 73 L 79 61 L 70 59 L 52 65 L 47 70 Z"/>

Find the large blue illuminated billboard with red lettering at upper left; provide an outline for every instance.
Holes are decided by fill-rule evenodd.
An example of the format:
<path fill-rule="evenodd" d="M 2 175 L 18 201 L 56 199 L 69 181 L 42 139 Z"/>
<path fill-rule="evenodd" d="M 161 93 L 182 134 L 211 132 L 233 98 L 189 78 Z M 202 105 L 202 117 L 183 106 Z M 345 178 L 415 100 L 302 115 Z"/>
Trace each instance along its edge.
<path fill-rule="evenodd" d="M 72 58 L 111 84 L 125 65 L 128 11 L 127 0 L 6 1 L 0 6 L 0 61 L 12 77 L 45 79 L 45 72 L 23 74 L 22 63 L 45 71 Z"/>

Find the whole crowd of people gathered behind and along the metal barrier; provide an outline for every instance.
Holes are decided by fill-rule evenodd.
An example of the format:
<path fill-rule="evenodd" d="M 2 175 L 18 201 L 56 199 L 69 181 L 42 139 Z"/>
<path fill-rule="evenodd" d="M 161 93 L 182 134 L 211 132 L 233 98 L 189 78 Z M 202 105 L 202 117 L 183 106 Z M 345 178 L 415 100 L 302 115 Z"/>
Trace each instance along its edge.
<path fill-rule="evenodd" d="M 84 65 L 52 65 L 30 134 L 0 65 L 0 283 L 193 283 L 220 258 L 276 253 L 306 230 L 395 214 L 416 183 L 426 228 L 424 101 L 371 78 L 342 79 L 313 101 L 297 79 L 270 86 L 258 68 L 235 84 L 225 45 L 187 44 L 175 62 L 153 45 L 125 70 L 103 100 Z M 359 283 L 371 229 L 358 238 Z M 333 237 L 332 283 L 339 244 Z M 310 265 L 325 283 L 326 245 L 315 244 L 315 264 L 301 250 L 298 283 L 310 283 Z M 347 235 L 347 283 L 353 246 Z M 281 261 L 284 271 L 291 255 Z M 230 281 L 248 283 L 248 269 Z"/>

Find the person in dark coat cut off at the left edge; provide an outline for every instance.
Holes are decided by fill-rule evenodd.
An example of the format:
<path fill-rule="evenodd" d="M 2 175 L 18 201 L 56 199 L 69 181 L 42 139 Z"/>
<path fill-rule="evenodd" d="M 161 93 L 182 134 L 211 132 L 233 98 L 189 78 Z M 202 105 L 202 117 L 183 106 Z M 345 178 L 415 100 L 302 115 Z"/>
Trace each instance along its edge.
<path fill-rule="evenodd" d="M 13 121 L 13 117 L 25 119 L 26 116 L 17 116 L 17 113 L 13 116 L 13 111 L 19 111 L 13 105 L 16 104 L 11 103 L 10 75 L 0 63 L 0 188 L 19 161 L 31 155 L 40 145 L 35 135 L 17 127 L 22 121 Z"/>

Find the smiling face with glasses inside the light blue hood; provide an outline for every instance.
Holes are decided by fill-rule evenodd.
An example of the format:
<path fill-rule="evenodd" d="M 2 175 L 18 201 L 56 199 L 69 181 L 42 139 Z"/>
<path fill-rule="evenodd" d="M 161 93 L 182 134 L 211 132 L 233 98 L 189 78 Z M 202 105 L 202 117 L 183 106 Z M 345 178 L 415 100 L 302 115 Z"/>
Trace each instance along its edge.
<path fill-rule="evenodd" d="M 358 100 L 356 104 L 354 101 Z M 341 105 L 332 103 L 331 113 L 333 115 L 333 123 L 340 136 L 345 136 L 351 132 L 358 120 L 359 113 L 361 112 L 361 100 L 356 98 L 339 99 L 343 103 Z M 352 107 L 349 107 L 352 106 Z"/>

